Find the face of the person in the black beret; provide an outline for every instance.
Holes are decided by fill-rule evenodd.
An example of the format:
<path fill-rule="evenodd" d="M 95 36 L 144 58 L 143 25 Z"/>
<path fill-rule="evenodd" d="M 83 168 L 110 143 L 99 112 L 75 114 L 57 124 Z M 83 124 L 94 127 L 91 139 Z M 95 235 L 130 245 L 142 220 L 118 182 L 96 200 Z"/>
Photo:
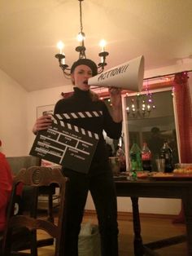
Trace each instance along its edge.
<path fill-rule="evenodd" d="M 88 66 L 79 65 L 72 73 L 72 82 L 81 90 L 89 90 L 88 78 L 92 76 L 92 70 Z"/>

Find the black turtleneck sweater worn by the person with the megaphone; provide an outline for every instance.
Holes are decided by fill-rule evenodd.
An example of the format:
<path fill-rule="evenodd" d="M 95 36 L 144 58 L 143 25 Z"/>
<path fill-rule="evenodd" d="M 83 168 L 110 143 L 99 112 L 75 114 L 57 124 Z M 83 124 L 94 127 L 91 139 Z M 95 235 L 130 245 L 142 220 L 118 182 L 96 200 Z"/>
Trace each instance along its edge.
<path fill-rule="evenodd" d="M 108 157 L 103 139 L 103 130 L 111 139 L 119 139 L 121 135 L 122 122 L 116 123 L 102 100 L 93 101 L 89 90 L 80 90 L 74 87 L 74 93 L 67 99 L 60 99 L 55 105 L 55 114 L 77 113 L 77 112 L 101 111 L 103 115 L 99 117 L 75 118 L 67 121 L 72 125 L 79 126 L 85 130 L 97 133 L 99 136 L 98 146 L 94 153 L 93 161 L 90 166 L 89 174 L 97 174 L 108 170 Z"/>

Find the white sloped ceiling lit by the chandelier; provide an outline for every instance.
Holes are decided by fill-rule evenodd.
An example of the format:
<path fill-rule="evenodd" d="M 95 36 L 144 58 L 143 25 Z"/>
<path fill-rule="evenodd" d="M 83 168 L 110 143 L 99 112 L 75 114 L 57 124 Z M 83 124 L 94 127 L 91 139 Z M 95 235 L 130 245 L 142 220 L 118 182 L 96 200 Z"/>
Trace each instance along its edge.
<path fill-rule="evenodd" d="M 145 56 L 145 70 L 192 61 L 191 0 L 84 0 L 86 56 L 107 68 Z M 65 43 L 67 64 L 78 59 L 78 0 L 0 0 L 0 68 L 28 91 L 70 84 L 55 54 Z"/>

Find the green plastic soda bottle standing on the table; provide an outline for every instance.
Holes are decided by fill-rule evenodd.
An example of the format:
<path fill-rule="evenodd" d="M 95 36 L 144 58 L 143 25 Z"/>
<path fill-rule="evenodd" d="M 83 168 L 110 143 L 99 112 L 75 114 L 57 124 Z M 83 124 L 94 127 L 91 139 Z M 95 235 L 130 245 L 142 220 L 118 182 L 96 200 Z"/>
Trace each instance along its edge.
<path fill-rule="evenodd" d="M 142 170 L 142 151 L 137 143 L 133 143 L 130 149 L 130 164 L 132 172 Z"/>

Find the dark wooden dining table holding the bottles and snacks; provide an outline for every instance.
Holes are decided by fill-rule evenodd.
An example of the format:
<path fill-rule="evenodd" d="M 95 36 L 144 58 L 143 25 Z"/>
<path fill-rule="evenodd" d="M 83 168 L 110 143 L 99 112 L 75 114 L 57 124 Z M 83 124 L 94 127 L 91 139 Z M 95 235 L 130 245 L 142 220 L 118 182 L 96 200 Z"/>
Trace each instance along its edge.
<path fill-rule="evenodd" d="M 155 249 L 187 242 L 188 255 L 192 256 L 192 179 L 115 179 L 117 196 L 129 196 L 133 205 L 134 255 L 158 255 Z M 185 214 L 186 234 L 164 238 L 144 245 L 139 218 L 139 197 L 180 198 Z"/>

